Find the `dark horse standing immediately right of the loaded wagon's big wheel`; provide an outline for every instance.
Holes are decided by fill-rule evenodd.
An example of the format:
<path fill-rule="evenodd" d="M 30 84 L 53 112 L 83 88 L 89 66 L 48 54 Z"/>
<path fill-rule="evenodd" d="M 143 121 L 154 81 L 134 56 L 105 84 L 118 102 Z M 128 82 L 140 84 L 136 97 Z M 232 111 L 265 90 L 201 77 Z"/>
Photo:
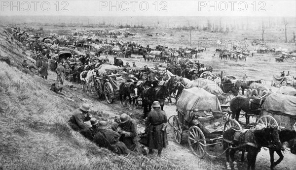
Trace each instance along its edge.
<path fill-rule="evenodd" d="M 119 85 L 119 99 L 120 103 L 122 103 L 122 96 L 126 100 L 126 97 L 129 98 L 129 104 L 131 105 L 133 102 L 133 105 L 135 105 L 135 100 L 138 97 L 138 88 L 137 85 L 130 80 L 126 81 L 127 83 L 121 83 Z"/>

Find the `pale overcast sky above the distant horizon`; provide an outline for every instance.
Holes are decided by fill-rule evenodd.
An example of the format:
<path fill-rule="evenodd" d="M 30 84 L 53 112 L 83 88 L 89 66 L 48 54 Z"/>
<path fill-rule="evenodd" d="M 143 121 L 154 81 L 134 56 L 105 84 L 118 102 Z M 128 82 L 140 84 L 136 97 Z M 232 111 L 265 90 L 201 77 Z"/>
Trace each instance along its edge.
<path fill-rule="evenodd" d="M 0 0 L 0 7 L 2 16 L 296 17 L 296 0 Z"/>

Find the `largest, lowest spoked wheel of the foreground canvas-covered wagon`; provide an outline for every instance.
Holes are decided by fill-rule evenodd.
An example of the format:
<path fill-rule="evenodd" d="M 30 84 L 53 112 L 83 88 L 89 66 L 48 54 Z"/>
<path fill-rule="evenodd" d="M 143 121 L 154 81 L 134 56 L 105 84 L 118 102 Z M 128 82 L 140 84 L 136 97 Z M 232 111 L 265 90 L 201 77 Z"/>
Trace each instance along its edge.
<path fill-rule="evenodd" d="M 191 151 L 199 158 L 203 158 L 206 154 L 206 138 L 197 126 L 191 126 L 188 130 L 188 143 Z"/>

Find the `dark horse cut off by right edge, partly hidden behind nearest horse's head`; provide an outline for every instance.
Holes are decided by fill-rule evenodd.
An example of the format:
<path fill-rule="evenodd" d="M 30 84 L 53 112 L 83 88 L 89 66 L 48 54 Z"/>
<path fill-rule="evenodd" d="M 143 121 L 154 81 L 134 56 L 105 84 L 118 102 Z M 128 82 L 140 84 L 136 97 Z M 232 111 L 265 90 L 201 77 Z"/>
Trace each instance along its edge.
<path fill-rule="evenodd" d="M 291 153 L 296 154 L 296 130 L 283 129 L 279 132 L 279 137 L 281 143 L 288 142 L 291 149 Z M 279 155 L 279 159 L 274 162 L 274 152 Z M 283 159 L 284 155 L 280 149 L 269 148 L 270 155 L 270 170 L 273 170 L 276 165 L 278 165 Z"/>

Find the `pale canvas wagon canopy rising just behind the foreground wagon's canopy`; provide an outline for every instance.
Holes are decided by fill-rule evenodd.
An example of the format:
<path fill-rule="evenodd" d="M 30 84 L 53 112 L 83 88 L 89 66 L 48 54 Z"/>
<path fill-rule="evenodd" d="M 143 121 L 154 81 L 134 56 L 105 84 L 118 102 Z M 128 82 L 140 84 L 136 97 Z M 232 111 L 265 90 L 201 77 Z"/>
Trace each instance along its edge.
<path fill-rule="evenodd" d="M 223 91 L 220 88 L 220 86 L 217 85 L 217 83 L 215 83 L 214 81 L 208 80 L 208 79 L 202 79 L 202 78 L 196 79 L 194 81 L 189 82 L 186 87 L 187 88 L 201 87 L 206 91 L 215 95 L 223 94 Z"/>

